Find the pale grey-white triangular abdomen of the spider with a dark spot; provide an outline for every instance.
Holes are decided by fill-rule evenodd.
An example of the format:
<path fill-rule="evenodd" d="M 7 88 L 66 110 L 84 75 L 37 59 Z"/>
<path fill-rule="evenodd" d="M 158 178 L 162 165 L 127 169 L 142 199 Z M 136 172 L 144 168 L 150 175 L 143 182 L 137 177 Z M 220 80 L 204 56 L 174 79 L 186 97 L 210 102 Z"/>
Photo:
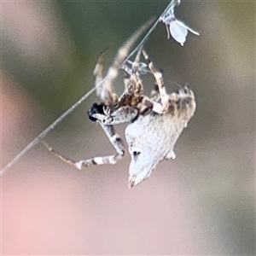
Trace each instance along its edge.
<path fill-rule="evenodd" d="M 169 96 L 169 102 L 166 113 L 151 111 L 126 127 L 125 137 L 131 154 L 130 187 L 149 177 L 161 160 L 175 158 L 173 147 L 195 113 L 194 93 L 183 87 Z"/>

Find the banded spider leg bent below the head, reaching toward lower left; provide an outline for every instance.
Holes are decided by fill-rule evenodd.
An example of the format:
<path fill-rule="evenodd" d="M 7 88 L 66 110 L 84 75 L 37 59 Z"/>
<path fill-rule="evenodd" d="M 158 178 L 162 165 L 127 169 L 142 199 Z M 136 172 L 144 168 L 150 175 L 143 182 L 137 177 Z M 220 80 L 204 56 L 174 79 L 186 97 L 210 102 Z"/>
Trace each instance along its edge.
<path fill-rule="evenodd" d="M 121 160 L 125 155 L 125 146 L 117 133 L 115 133 L 113 129 L 113 125 L 102 125 L 103 131 L 105 131 L 106 135 L 108 136 L 109 141 L 113 144 L 113 147 L 116 149 L 116 154 L 108 155 L 108 156 L 98 156 L 88 160 L 71 160 L 66 156 L 59 154 L 55 151 L 54 148 L 51 148 L 49 144 L 41 141 L 44 144 L 44 147 L 49 150 L 50 153 L 55 154 L 59 159 L 63 160 L 67 164 L 78 168 L 79 170 L 82 167 L 90 167 L 94 165 L 105 165 L 105 164 L 115 164 L 118 160 Z"/>

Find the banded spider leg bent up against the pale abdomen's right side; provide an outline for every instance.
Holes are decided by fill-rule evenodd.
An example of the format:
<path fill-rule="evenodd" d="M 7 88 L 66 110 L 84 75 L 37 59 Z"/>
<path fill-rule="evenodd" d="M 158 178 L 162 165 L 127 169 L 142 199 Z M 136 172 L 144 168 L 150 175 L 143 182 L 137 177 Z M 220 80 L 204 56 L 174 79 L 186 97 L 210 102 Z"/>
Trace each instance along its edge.
<path fill-rule="evenodd" d="M 148 54 L 144 49 L 143 49 L 143 55 L 145 60 L 148 61 L 148 67 L 151 73 L 154 75 L 154 79 L 156 81 L 156 84 L 158 85 L 158 90 L 160 93 L 161 103 L 153 102 L 154 103 L 153 110 L 156 113 L 166 113 L 169 107 L 169 103 L 168 103 L 168 96 L 166 94 L 166 88 L 164 86 L 164 80 L 163 80 L 162 74 L 154 68 L 153 62 L 149 60 Z"/>

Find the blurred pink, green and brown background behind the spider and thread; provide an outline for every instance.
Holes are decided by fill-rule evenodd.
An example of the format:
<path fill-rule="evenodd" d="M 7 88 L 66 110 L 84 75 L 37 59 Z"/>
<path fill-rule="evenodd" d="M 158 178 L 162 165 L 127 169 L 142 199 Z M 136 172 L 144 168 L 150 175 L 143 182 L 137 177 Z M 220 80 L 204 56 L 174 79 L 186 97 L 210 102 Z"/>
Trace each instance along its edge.
<path fill-rule="evenodd" d="M 2 3 L 1 165 L 93 87 L 93 68 L 168 1 Z M 255 2 L 182 1 L 201 33 L 182 47 L 160 23 L 145 49 L 166 90 L 188 82 L 197 110 L 145 182 L 128 189 L 130 156 L 75 170 L 40 144 L 2 177 L 2 254 L 255 255 Z M 143 78 L 145 93 L 154 80 Z M 115 89 L 123 90 L 122 76 Z M 113 154 L 86 111 L 45 140 L 75 160 Z M 125 140 L 125 125 L 117 131 Z"/>

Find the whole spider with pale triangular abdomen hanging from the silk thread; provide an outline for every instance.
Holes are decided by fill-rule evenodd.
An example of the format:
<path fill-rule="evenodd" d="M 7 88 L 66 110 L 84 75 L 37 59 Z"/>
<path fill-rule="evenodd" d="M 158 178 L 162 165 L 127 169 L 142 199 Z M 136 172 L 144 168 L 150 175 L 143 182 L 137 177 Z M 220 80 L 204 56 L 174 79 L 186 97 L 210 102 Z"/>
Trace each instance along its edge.
<path fill-rule="evenodd" d="M 195 96 L 189 85 L 184 85 L 176 93 L 167 94 L 162 74 L 154 67 L 144 49 L 138 50 L 135 61 L 126 61 L 120 65 L 125 60 L 131 41 L 132 37 L 119 49 L 104 80 L 102 61 L 105 52 L 102 52 L 93 72 L 95 84 L 101 84 L 96 86 L 96 95 L 102 102 L 93 103 L 87 112 L 91 121 L 102 126 L 116 154 L 76 161 L 57 153 L 43 142 L 51 153 L 79 170 L 93 165 L 115 164 L 124 157 L 125 146 L 113 125 L 128 122 L 125 137 L 131 154 L 129 188 L 148 178 L 161 160 L 176 158 L 174 144 L 195 113 Z M 147 61 L 148 69 L 139 62 L 141 55 Z M 125 91 L 121 96 L 117 96 L 112 89 L 119 67 L 125 70 Z M 140 76 L 147 71 L 155 79 L 151 97 L 143 95 Z"/>

